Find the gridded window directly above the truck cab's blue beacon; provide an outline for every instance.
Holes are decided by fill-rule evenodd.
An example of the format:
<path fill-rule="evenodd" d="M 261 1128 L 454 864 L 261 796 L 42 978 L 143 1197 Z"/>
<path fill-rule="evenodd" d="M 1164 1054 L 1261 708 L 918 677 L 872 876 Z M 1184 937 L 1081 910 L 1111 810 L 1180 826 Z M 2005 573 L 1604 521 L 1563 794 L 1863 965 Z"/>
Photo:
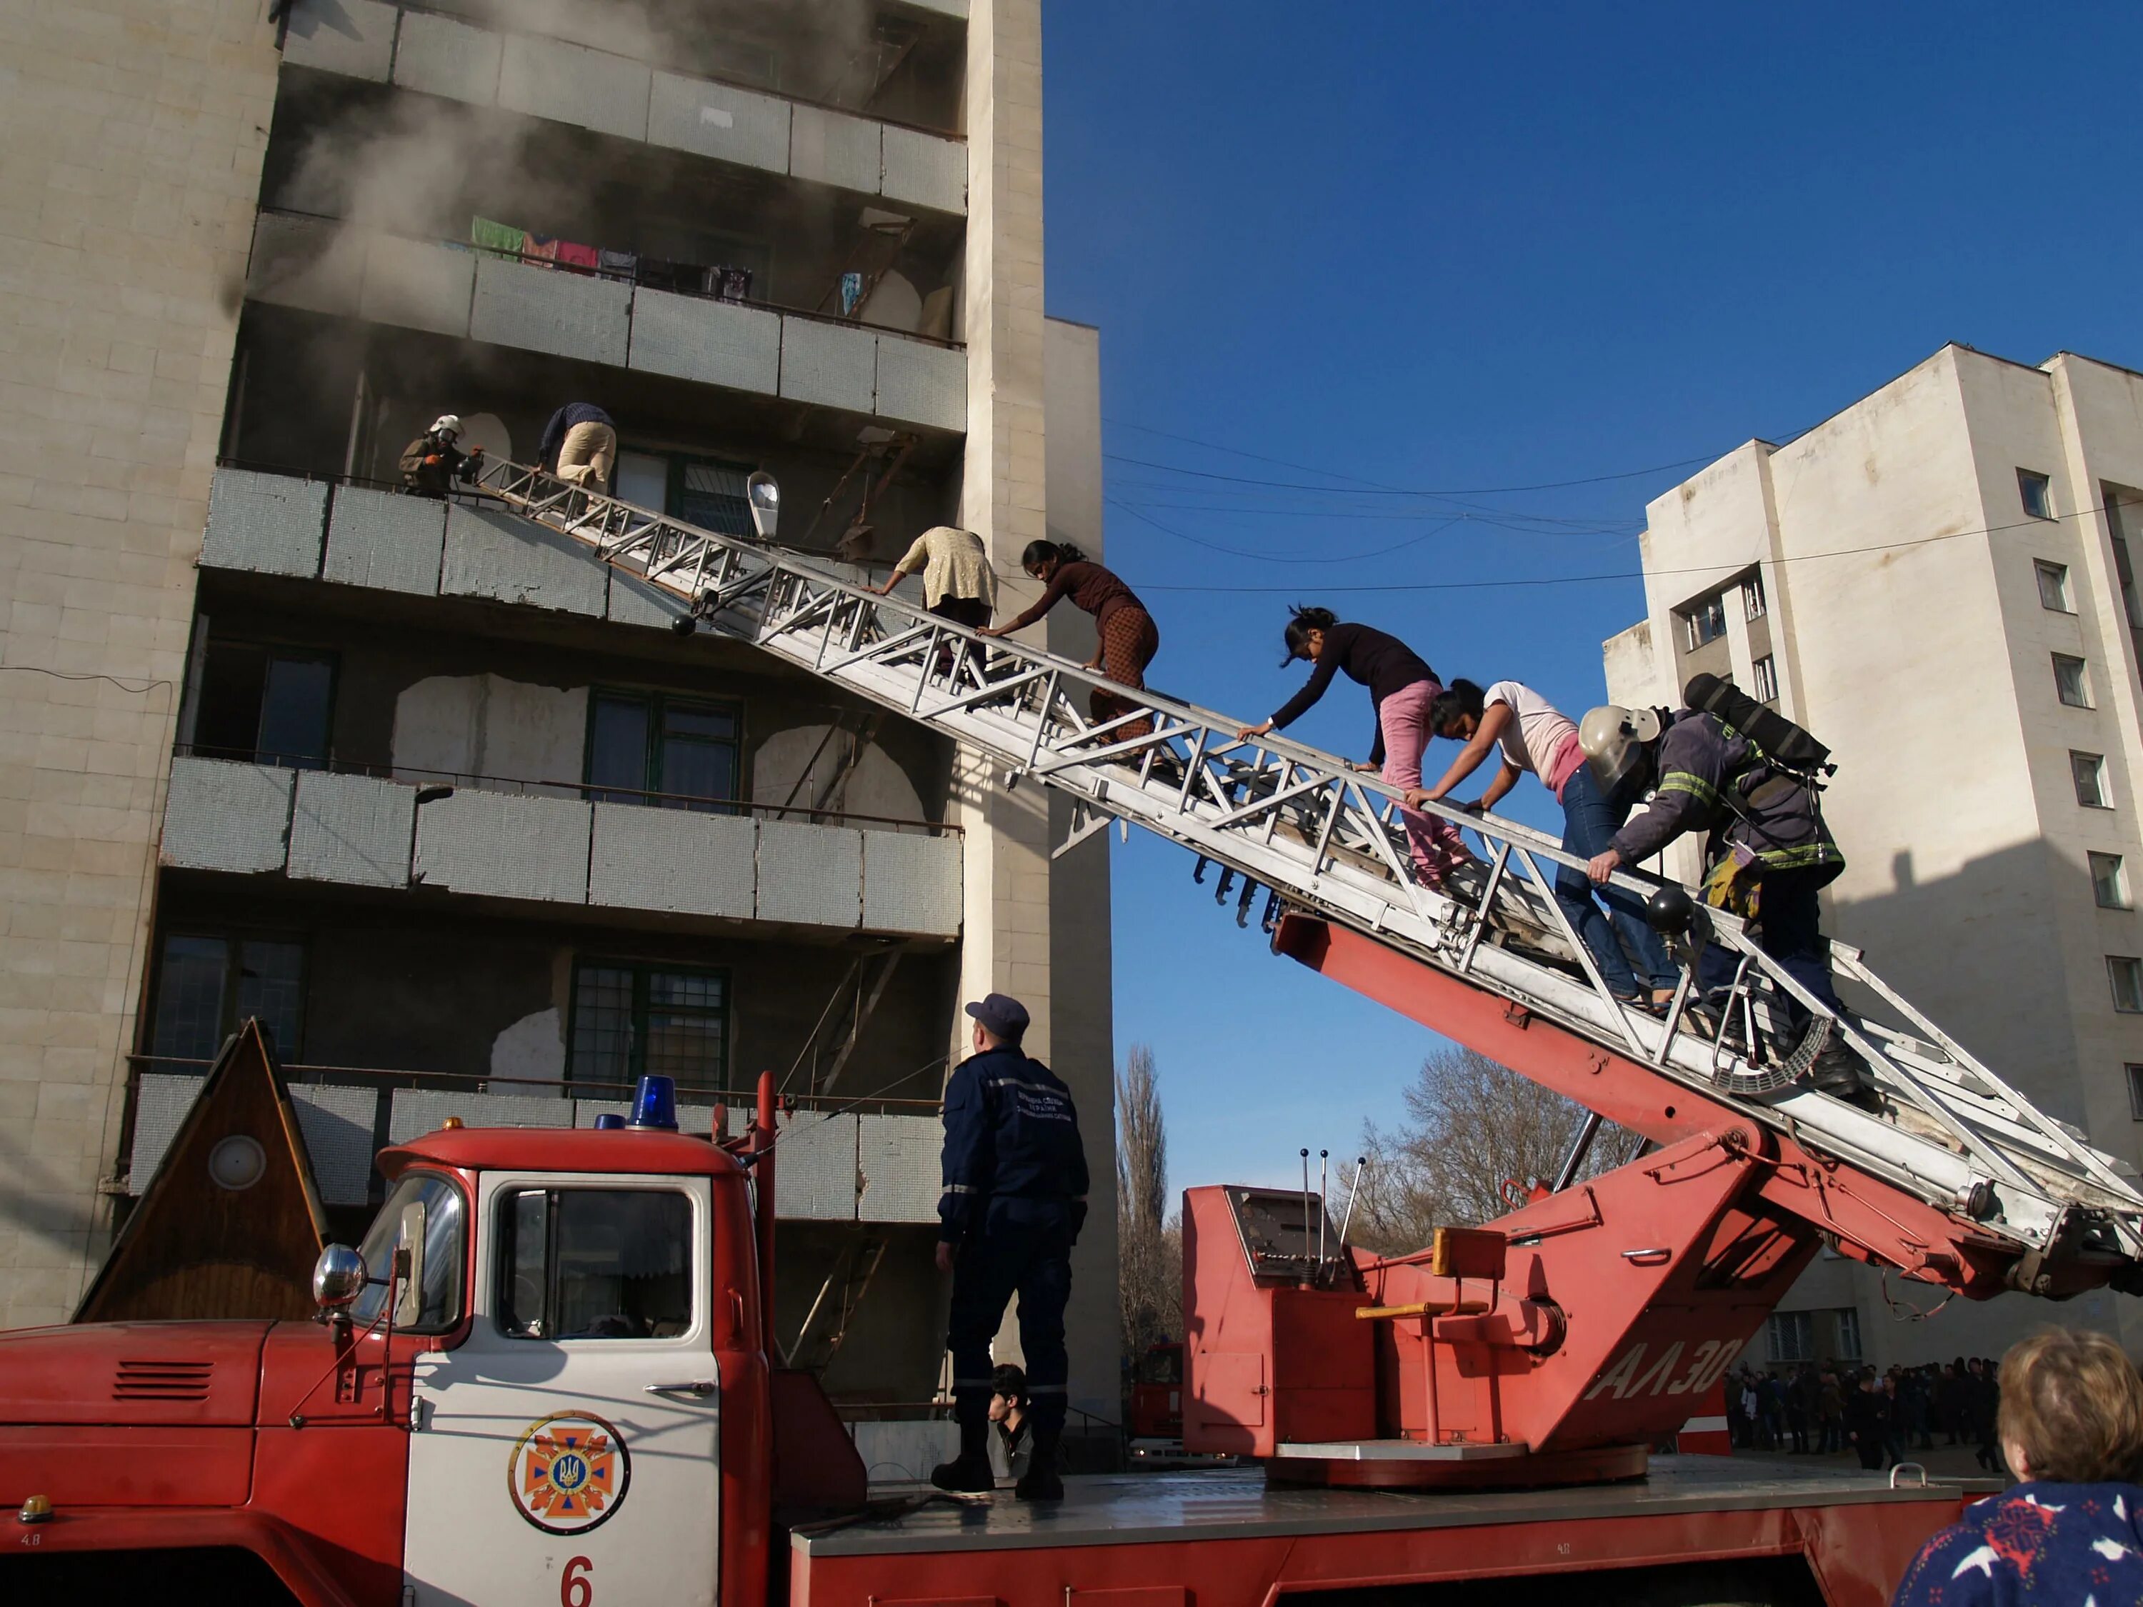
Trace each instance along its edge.
<path fill-rule="evenodd" d="M 574 1082 L 675 1078 L 679 1088 L 729 1086 L 729 975 L 583 960 L 572 973 Z"/>

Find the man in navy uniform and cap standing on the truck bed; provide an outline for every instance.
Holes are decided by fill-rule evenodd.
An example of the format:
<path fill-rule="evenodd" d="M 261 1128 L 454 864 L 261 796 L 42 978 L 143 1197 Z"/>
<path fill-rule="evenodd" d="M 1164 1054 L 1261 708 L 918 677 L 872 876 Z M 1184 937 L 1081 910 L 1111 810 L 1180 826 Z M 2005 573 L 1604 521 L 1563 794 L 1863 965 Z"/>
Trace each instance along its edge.
<path fill-rule="evenodd" d="M 939 1271 L 951 1273 L 951 1399 L 960 1455 L 939 1463 L 939 1489 L 986 1491 L 990 1476 L 990 1395 L 996 1369 L 990 1339 L 1005 1303 L 1020 1296 L 1020 1348 L 1026 1352 L 1033 1459 L 1018 1483 L 1022 1500 L 1061 1500 L 1056 1442 L 1065 1429 L 1065 1301 L 1072 1298 L 1072 1245 L 1087 1221 L 1087 1148 L 1072 1091 L 1020 1052 L 1026 1007 L 990 994 L 969 1005 L 975 1054 L 945 1084 L 945 1193 L 939 1196 Z"/>

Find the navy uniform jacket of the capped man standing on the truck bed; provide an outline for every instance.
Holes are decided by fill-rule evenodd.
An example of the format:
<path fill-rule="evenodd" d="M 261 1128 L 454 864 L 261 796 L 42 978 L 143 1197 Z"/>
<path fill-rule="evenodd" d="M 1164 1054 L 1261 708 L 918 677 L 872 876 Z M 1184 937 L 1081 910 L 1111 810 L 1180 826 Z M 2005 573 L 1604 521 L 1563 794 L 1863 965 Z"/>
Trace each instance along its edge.
<path fill-rule="evenodd" d="M 1087 1198 L 1087 1146 L 1072 1091 L 1041 1061 L 1003 1046 L 962 1061 L 945 1084 L 939 1238 L 958 1243 L 979 1228 L 992 1196 L 1065 1204 Z"/>

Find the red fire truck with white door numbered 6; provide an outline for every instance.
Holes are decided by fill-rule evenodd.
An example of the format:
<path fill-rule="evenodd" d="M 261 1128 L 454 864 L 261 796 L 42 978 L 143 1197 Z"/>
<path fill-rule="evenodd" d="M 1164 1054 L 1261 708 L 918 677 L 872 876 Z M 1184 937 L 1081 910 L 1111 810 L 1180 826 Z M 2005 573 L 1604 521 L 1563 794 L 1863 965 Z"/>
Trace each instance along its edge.
<path fill-rule="evenodd" d="M 392 1193 L 360 1249 L 321 1256 L 317 1324 L 0 1337 L 21 1508 L 0 1598 L 1367 1607 L 1584 1575 L 1588 1601 L 1875 1607 L 1969 1498 L 1719 1457 L 1646 1474 L 1661 1414 L 1734 1354 L 1702 1313 L 1721 1251 L 1759 1281 L 1796 1264 L 1753 1215 L 1691 1208 L 1781 1176 L 1727 1129 L 1657 1151 L 1654 1213 L 1564 1189 L 1397 1262 L 1320 1249 L 1320 1200 L 1194 1189 L 1187 1438 L 1262 1472 L 872 1506 L 812 1380 L 767 1361 L 771 1080 L 729 1144 L 666 1129 L 660 1088 L 643 1108 L 386 1151 Z M 1616 1309 L 1543 1256 L 1586 1238 L 1631 1266 L 1592 1290 Z M 1706 1256 L 1654 1268 L 1652 1241 Z M 1569 1388 L 1519 1388 L 1558 1358 Z M 1586 1425 L 1543 1427 L 1537 1401 Z M 1350 1487 L 1393 1483 L 1466 1493 Z"/>

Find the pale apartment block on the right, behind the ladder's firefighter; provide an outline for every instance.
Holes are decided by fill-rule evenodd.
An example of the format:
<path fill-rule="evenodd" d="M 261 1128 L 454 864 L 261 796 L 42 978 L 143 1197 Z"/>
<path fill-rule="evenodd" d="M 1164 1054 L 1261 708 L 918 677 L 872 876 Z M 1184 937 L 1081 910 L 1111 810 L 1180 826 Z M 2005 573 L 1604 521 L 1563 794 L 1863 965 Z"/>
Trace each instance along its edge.
<path fill-rule="evenodd" d="M 1609 696 L 1678 707 L 1691 675 L 1732 675 L 1830 744 L 1830 934 L 2143 1163 L 2143 375 L 1948 345 L 1646 516 L 1646 619 L 1605 643 Z M 1997 1356 L 2049 1320 L 2143 1350 L 2143 1303 L 2111 1292 L 1933 1305 L 1826 1256 L 1759 1352 Z"/>

